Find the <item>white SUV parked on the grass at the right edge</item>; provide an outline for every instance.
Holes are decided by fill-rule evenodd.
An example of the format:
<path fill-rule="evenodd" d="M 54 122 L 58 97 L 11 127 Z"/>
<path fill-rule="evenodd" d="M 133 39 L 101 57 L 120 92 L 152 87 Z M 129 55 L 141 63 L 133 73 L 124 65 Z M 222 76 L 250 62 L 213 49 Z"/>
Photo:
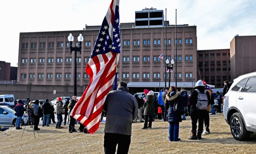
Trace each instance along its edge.
<path fill-rule="evenodd" d="M 223 99 L 224 118 L 233 137 L 248 140 L 256 132 L 256 72 L 234 79 Z"/>

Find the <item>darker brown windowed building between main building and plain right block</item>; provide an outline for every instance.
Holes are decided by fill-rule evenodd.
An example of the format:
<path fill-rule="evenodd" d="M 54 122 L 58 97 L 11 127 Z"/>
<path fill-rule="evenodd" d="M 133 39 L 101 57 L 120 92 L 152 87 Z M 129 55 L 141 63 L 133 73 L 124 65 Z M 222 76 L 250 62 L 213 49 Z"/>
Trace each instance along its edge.
<path fill-rule="evenodd" d="M 206 81 L 207 84 L 222 88 L 224 81 L 230 81 L 230 50 L 198 50 L 197 79 Z"/>

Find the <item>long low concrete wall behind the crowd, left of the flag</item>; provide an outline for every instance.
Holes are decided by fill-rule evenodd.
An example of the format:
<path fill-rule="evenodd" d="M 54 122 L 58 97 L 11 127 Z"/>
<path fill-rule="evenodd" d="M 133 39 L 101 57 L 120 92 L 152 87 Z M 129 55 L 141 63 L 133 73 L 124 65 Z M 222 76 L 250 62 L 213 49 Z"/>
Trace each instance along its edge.
<path fill-rule="evenodd" d="M 82 96 L 86 86 L 77 86 L 77 96 Z M 13 94 L 16 99 L 26 99 L 29 97 L 33 100 L 42 100 L 54 98 L 53 90 L 56 90 L 55 98 L 59 96 L 69 96 L 74 95 L 74 86 L 64 85 L 64 86 L 54 86 L 54 85 L 0 85 L 0 95 L 3 94 Z M 32 99 L 31 99 L 32 100 Z"/>

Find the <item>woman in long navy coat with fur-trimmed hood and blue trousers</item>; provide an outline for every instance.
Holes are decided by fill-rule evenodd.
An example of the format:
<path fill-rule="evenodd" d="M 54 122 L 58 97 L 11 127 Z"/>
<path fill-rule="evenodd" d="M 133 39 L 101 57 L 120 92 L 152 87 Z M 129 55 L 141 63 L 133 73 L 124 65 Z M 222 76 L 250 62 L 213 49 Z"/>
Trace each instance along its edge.
<path fill-rule="evenodd" d="M 168 109 L 168 122 L 169 122 L 169 140 L 180 141 L 179 127 L 181 122 L 181 115 L 175 113 L 173 110 L 175 100 L 180 97 L 180 92 L 176 90 L 176 87 L 171 86 L 168 94 L 166 95 L 165 103 L 169 104 Z"/>

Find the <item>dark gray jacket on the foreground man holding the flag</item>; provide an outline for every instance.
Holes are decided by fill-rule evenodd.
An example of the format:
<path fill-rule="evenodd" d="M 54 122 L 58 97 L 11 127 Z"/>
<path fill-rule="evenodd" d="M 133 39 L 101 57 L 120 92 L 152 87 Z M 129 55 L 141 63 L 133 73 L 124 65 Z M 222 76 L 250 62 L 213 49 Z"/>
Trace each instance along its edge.
<path fill-rule="evenodd" d="M 104 133 L 132 135 L 132 120 L 138 114 L 138 103 L 126 87 L 110 91 L 103 110 L 107 112 Z"/>

